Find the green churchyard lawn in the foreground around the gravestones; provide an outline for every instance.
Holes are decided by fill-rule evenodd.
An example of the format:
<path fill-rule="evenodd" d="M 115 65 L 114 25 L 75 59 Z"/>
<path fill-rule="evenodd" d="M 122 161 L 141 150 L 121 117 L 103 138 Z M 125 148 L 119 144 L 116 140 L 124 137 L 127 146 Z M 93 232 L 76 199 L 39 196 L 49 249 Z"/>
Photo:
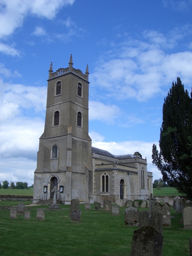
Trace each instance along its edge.
<path fill-rule="evenodd" d="M 10 211 L 0 209 L 0 255 L 1 256 L 130 256 L 133 231 L 137 227 L 124 225 L 125 207 L 119 216 L 103 210 L 85 210 L 80 205 L 81 222 L 72 223 L 70 206 L 62 210 L 48 211 L 48 206 L 29 206 L 31 220 L 23 215 L 10 219 Z M 0 201 L 0 206 L 17 206 L 18 202 Z M 36 220 L 37 208 L 45 208 L 45 220 Z M 148 209 L 141 209 L 148 210 Z M 171 215 L 175 215 L 172 209 Z M 188 256 L 191 230 L 180 224 L 181 214 L 171 219 L 171 227 L 163 228 L 162 256 Z"/>

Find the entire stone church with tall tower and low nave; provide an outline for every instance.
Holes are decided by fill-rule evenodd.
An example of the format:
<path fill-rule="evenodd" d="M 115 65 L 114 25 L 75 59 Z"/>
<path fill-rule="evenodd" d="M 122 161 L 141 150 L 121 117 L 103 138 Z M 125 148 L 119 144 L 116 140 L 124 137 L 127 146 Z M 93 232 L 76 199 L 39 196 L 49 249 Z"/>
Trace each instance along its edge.
<path fill-rule="evenodd" d="M 70 204 L 118 199 L 144 200 L 152 193 L 147 160 L 113 155 L 92 147 L 88 134 L 89 71 L 68 67 L 49 70 L 44 132 L 39 139 L 33 202 L 53 198 Z"/>

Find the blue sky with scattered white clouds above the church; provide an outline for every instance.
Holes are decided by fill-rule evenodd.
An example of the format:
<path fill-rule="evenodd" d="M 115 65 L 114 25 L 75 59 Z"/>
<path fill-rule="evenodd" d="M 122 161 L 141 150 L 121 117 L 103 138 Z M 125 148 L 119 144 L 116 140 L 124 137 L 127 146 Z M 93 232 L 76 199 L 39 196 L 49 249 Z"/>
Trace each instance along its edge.
<path fill-rule="evenodd" d="M 0 181 L 33 184 L 53 71 L 89 66 L 89 134 L 152 165 L 162 106 L 180 76 L 192 87 L 192 0 L 1 0 Z"/>

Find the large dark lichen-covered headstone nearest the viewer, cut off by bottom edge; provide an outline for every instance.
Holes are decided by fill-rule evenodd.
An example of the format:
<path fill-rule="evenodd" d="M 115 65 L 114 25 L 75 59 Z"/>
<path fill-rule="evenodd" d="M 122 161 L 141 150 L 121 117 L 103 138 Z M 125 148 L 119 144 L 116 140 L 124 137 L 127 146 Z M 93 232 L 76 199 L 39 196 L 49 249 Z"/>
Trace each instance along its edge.
<path fill-rule="evenodd" d="M 130 256 L 161 256 L 163 235 L 154 226 L 143 226 L 135 230 Z"/>

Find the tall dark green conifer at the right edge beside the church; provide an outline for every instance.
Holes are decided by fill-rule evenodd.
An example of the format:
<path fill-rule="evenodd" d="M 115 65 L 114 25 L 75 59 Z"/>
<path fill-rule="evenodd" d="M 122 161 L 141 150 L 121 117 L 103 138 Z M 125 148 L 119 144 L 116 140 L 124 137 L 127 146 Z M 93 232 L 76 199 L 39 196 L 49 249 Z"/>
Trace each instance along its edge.
<path fill-rule="evenodd" d="M 153 163 L 170 187 L 192 197 L 192 94 L 180 78 L 172 84 L 163 104 L 160 152 L 153 145 Z"/>

